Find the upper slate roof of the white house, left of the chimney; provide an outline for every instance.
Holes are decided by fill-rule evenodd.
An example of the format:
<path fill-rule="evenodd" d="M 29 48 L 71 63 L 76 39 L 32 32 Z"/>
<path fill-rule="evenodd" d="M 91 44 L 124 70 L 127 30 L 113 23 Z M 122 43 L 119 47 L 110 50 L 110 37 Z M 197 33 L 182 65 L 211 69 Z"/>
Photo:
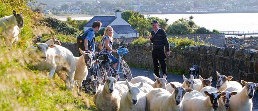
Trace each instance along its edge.
<path fill-rule="evenodd" d="M 94 21 L 100 21 L 102 23 L 102 27 L 106 27 L 115 19 L 115 16 L 94 16 L 89 22 L 86 23 L 86 25 L 84 25 L 84 27 L 91 27 Z"/>

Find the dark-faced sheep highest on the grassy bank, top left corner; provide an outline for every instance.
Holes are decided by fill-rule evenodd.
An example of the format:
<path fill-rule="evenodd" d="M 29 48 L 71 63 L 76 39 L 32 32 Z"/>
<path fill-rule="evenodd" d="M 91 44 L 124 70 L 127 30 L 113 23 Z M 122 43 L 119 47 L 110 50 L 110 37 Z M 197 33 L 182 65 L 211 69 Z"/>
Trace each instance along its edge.
<path fill-rule="evenodd" d="M 14 43 L 14 46 L 16 46 L 16 42 L 18 41 L 18 34 L 24 27 L 22 12 L 16 14 L 16 11 L 13 10 L 13 15 L 4 16 L 1 18 L 0 27 L 3 27 L 1 34 L 7 38 L 7 44 L 9 44 L 11 47 Z"/>

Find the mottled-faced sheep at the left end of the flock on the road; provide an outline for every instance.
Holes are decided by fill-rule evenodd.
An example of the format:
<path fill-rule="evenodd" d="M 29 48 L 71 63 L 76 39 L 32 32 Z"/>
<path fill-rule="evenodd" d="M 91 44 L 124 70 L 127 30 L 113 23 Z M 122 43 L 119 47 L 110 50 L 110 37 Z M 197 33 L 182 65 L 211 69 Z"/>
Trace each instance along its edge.
<path fill-rule="evenodd" d="M 91 76 L 91 87 L 92 87 L 92 94 L 93 94 L 93 102 L 96 105 L 96 100 L 99 93 L 103 90 L 104 85 L 101 85 L 103 82 L 104 77 L 101 77 L 98 80 L 95 80 L 94 75 Z"/>

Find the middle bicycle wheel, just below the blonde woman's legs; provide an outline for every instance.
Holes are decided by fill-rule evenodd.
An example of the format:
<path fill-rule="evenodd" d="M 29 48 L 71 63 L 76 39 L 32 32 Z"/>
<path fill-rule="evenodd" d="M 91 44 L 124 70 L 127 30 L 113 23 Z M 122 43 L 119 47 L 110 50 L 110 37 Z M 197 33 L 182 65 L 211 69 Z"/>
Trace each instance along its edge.
<path fill-rule="evenodd" d="M 99 71 L 97 74 L 97 77 L 105 77 L 105 72 L 108 72 L 108 77 L 116 77 L 116 70 L 112 65 L 107 65 L 107 66 L 99 66 Z"/>

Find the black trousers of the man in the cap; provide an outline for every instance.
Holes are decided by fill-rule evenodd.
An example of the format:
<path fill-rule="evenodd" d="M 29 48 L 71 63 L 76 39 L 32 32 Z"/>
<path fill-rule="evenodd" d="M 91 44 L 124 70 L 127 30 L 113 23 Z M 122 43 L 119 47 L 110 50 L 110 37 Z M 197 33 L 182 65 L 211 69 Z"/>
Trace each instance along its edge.
<path fill-rule="evenodd" d="M 160 77 L 159 76 L 159 63 L 160 63 L 161 68 L 162 68 L 163 76 L 167 75 L 167 66 L 166 66 L 166 61 L 165 61 L 166 60 L 166 55 L 165 55 L 164 49 L 163 49 L 163 51 L 162 50 L 153 49 L 152 50 L 152 60 L 153 60 L 155 75 L 157 77 Z"/>

